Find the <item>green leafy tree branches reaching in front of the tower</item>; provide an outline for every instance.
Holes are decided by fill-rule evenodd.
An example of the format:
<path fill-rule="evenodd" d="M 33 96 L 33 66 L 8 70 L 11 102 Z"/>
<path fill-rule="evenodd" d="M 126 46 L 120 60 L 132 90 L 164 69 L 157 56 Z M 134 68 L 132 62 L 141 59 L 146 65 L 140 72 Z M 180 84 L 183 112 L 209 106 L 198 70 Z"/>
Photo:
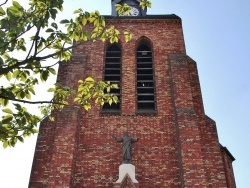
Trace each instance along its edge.
<path fill-rule="evenodd" d="M 56 83 L 48 90 L 54 94 L 51 100 L 32 100 L 35 87 L 56 75 L 55 65 L 69 62 L 71 50 L 80 42 L 109 40 L 114 43 L 118 42 L 120 32 L 113 26 L 107 27 L 98 11 L 89 13 L 78 9 L 74 11 L 74 20 L 64 19 L 58 23 L 55 20 L 63 10 L 63 0 L 28 2 L 28 8 L 17 1 L 7 6 L 8 0 L 0 6 L 0 79 L 7 80 L 0 88 L 0 141 L 4 148 L 14 147 L 17 141 L 23 142 L 26 136 L 37 133 L 39 122 L 46 117 L 53 120 L 51 110 L 63 109 L 71 105 L 69 101 L 82 105 L 85 110 L 91 108 L 92 101 L 98 105 L 118 101 L 117 96 L 109 94 L 117 85 L 90 77 L 79 80 L 77 91 Z M 140 6 L 145 8 L 151 4 L 144 0 Z M 123 5 L 117 6 L 117 10 L 119 14 L 127 14 L 130 8 Z M 86 26 L 93 30 L 85 29 Z M 61 27 L 66 31 L 61 31 Z M 127 31 L 123 35 L 125 41 L 132 38 Z M 25 104 L 39 104 L 41 116 L 32 114 Z"/>

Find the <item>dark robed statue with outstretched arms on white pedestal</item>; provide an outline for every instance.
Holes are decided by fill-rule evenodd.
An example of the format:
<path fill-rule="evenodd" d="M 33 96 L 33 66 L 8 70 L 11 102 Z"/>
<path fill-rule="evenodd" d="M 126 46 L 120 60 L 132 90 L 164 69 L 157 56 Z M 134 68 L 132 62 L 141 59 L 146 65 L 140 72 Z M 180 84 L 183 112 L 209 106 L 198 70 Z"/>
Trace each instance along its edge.
<path fill-rule="evenodd" d="M 137 142 L 139 138 L 129 137 L 127 131 L 123 137 L 113 137 L 117 142 L 122 142 L 122 164 L 132 164 L 132 144 Z"/>

